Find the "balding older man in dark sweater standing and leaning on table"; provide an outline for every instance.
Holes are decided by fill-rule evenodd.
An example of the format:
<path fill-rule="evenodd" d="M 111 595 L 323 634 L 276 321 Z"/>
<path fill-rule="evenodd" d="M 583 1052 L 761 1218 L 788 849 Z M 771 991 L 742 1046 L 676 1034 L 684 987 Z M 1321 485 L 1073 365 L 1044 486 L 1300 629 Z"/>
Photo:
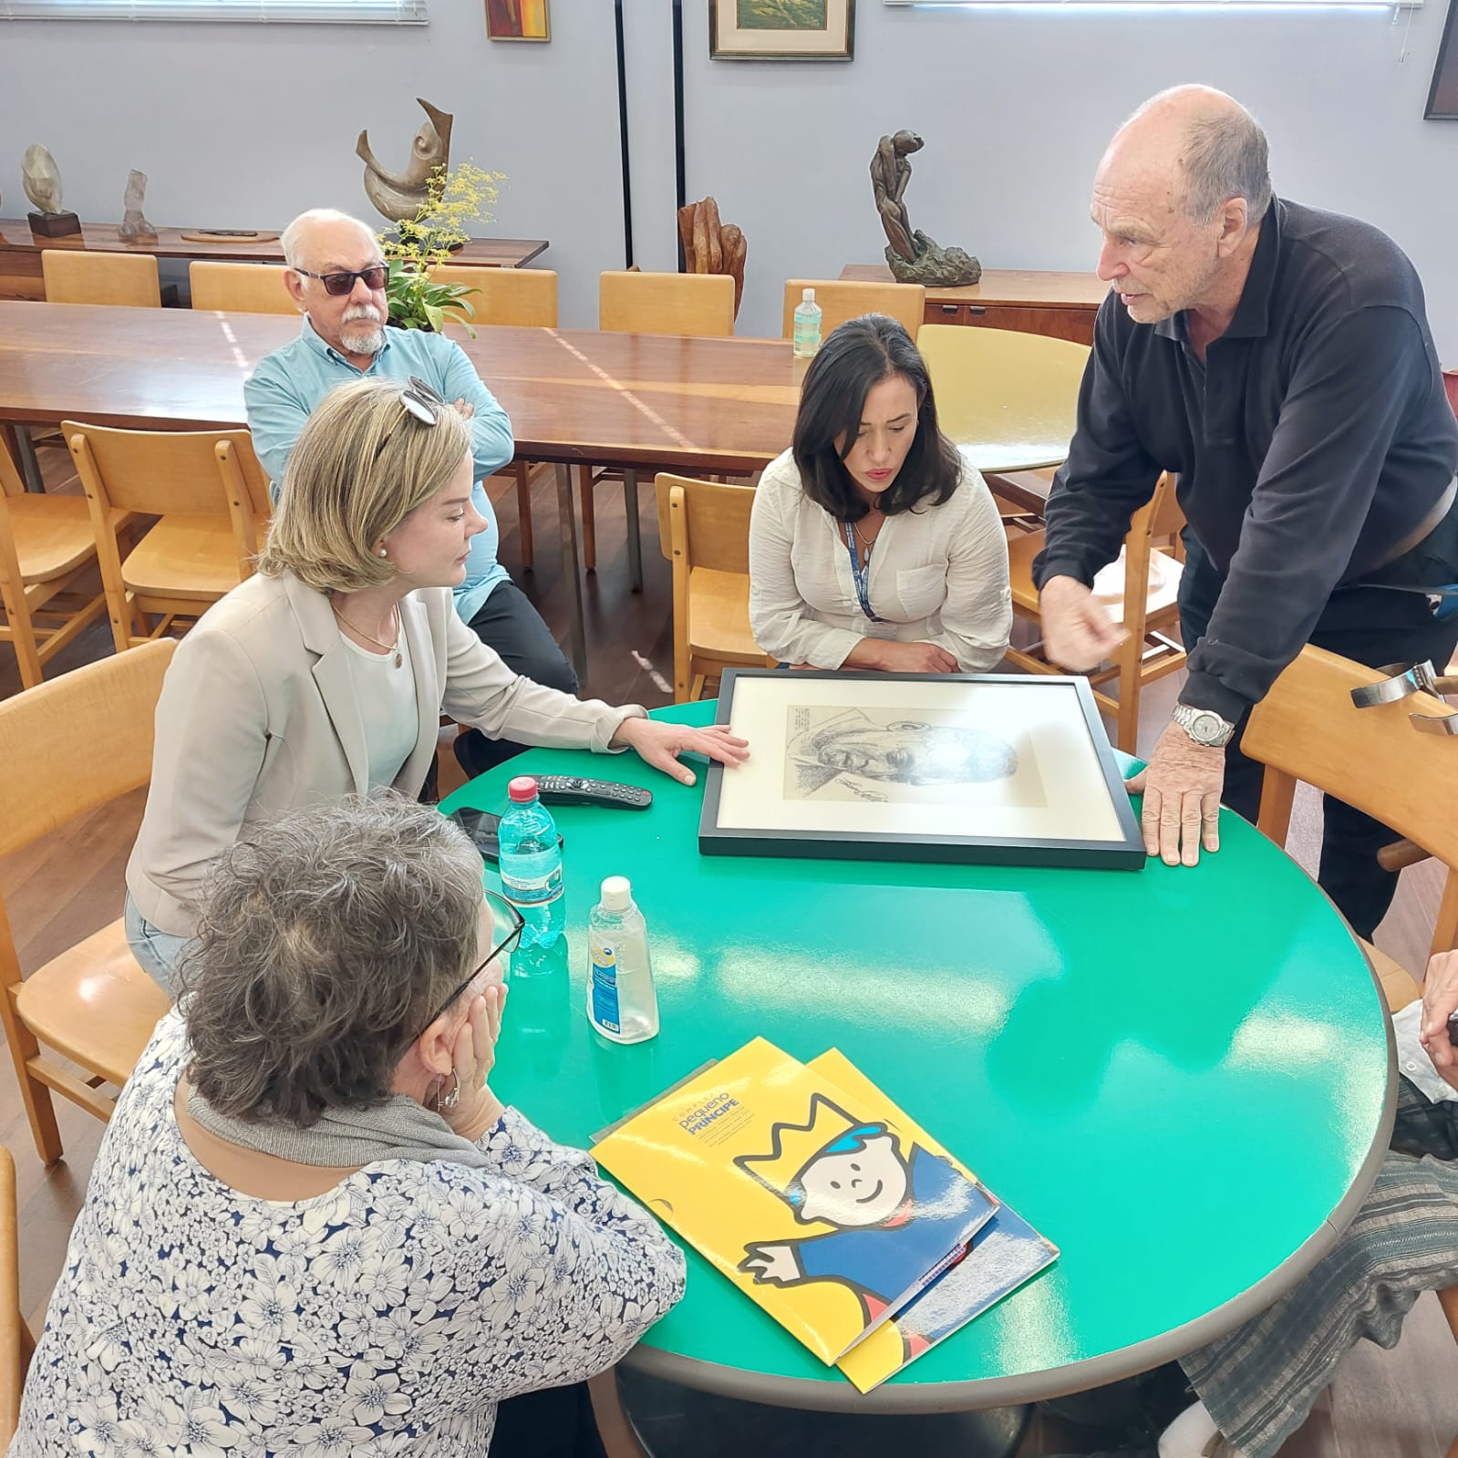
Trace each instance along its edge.
<path fill-rule="evenodd" d="M 1239 730 L 1303 643 L 1363 663 L 1458 643 L 1458 424 L 1403 251 L 1368 223 L 1271 195 L 1266 137 L 1232 98 L 1146 102 L 1094 182 L 1104 233 L 1077 433 L 1034 567 L 1048 655 L 1070 669 L 1123 637 L 1094 601 L 1161 471 L 1188 519 L 1180 589 L 1190 677 L 1133 787 L 1145 844 L 1216 850 L 1222 799 L 1255 819 Z M 1394 840 L 1328 798 L 1321 884 L 1363 936 L 1391 904 Z"/>

